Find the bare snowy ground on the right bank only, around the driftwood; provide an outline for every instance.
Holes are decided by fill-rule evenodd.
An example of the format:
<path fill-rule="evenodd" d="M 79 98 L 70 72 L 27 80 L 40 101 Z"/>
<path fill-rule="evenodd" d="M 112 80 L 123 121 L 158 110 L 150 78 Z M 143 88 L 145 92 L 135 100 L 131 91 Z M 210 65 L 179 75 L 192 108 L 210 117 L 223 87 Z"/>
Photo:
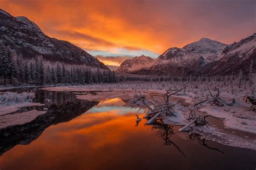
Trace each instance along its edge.
<path fill-rule="evenodd" d="M 77 92 L 77 98 L 83 100 L 102 101 L 104 99 L 121 98 L 129 100 L 134 94 L 146 94 L 150 96 L 158 96 L 157 100 L 161 100 L 161 95 L 166 89 L 173 91 L 183 87 L 183 84 L 163 84 L 163 83 L 132 83 L 132 84 L 105 84 L 105 85 L 83 85 L 83 86 L 62 86 L 62 87 L 47 87 L 49 91 L 73 91 Z M 214 87 L 210 87 L 213 95 L 217 93 Z M 191 132 L 197 132 L 202 135 L 202 138 L 220 142 L 224 145 L 235 147 L 256 149 L 256 113 L 252 111 L 251 104 L 245 102 L 247 91 L 241 89 L 232 89 L 232 91 L 223 86 L 220 88 L 220 98 L 226 103 L 232 103 L 233 98 L 235 103 L 232 106 L 225 105 L 218 107 L 209 103 L 193 106 L 200 101 L 203 101 L 208 96 L 208 90 L 205 86 L 194 88 L 188 86 L 186 90 L 181 91 L 174 96 L 173 100 L 182 100 L 188 107 L 193 108 L 198 114 L 210 114 L 215 117 L 225 118 L 220 120 L 210 119 L 210 128 L 191 126 Z M 176 106 L 178 117 L 164 117 L 163 121 L 166 124 L 186 125 L 188 120 L 187 108 L 183 105 Z M 184 133 L 184 132 L 181 132 Z"/>

